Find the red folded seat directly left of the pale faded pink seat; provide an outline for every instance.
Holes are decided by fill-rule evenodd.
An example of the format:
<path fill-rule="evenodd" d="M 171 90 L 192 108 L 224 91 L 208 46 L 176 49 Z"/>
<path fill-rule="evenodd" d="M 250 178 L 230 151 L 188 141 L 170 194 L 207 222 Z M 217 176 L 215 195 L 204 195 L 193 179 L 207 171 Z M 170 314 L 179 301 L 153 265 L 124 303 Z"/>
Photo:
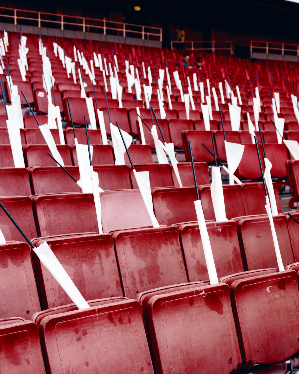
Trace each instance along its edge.
<path fill-rule="evenodd" d="M 99 230 L 92 194 L 35 195 L 32 199 L 38 236 Z"/>

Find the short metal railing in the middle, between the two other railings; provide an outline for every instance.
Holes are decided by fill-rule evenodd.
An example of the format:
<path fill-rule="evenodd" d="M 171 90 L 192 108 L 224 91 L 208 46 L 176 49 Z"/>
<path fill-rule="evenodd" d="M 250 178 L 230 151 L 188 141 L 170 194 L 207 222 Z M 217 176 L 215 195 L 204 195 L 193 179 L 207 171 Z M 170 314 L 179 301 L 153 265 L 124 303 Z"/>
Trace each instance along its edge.
<path fill-rule="evenodd" d="M 187 40 L 185 42 L 172 40 L 172 50 L 175 49 L 176 43 L 184 43 L 184 49 L 186 50 L 210 50 L 211 52 L 215 52 L 216 50 L 229 50 L 231 55 L 234 53 L 234 46 L 231 40 Z"/>

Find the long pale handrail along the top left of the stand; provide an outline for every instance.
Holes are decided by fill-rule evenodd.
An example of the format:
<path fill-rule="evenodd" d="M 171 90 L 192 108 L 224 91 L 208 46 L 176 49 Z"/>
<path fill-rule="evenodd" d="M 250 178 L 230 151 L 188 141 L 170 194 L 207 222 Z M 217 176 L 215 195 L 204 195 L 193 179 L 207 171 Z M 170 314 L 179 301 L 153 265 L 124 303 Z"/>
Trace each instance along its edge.
<path fill-rule="evenodd" d="M 11 12 L 11 14 L 5 13 Z M 26 17 L 22 15 L 22 13 L 33 13 L 36 14 L 37 17 Z M 56 16 L 56 19 L 59 21 L 54 21 L 46 18 L 42 18 L 42 16 Z M 60 24 L 61 30 L 66 30 L 66 25 L 77 26 L 81 28 L 81 30 L 85 33 L 86 32 L 86 25 L 88 26 L 88 30 L 90 28 L 96 30 L 103 30 L 103 34 L 107 34 L 107 30 L 114 30 L 120 32 L 121 35 L 124 37 L 129 33 L 130 35 L 141 35 L 142 40 L 145 39 L 145 35 L 147 35 L 147 39 L 150 37 L 156 37 L 160 42 L 162 42 L 162 28 L 160 27 L 152 27 L 152 26 L 144 26 L 144 25 L 135 25 L 129 24 L 124 22 L 117 22 L 117 21 L 107 21 L 105 18 L 97 19 L 97 18 L 87 18 L 87 17 L 79 17 L 79 16 L 71 16 L 71 15 L 64 15 L 64 14 L 56 14 L 56 13 L 47 13 L 47 12 L 37 12 L 35 10 L 25 10 L 25 9 L 15 9 L 9 7 L 2 7 L 0 6 L 0 21 L 3 18 L 12 18 L 13 23 L 15 25 L 18 24 L 18 20 L 26 19 L 28 21 L 37 22 L 38 27 L 43 26 L 49 27 L 49 24 Z M 76 19 L 78 22 L 67 22 L 67 19 Z M 81 22 L 79 22 L 81 21 Z M 114 25 L 115 27 L 107 27 L 107 23 Z M 100 24 L 100 25 L 99 25 Z M 117 27 L 119 25 L 119 27 Z M 139 29 L 139 30 L 136 30 Z M 144 29 L 147 29 L 145 32 Z M 68 29 L 68 28 L 67 28 Z M 154 38 L 151 38 L 154 39 Z"/>

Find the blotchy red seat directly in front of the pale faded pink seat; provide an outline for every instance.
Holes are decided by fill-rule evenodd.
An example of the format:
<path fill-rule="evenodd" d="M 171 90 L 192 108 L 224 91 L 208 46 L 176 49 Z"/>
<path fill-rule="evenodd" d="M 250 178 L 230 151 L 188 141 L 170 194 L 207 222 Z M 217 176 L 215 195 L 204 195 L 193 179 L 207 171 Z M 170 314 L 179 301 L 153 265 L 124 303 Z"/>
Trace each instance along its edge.
<path fill-rule="evenodd" d="M 187 282 L 176 227 L 122 230 L 113 237 L 124 296 Z"/>

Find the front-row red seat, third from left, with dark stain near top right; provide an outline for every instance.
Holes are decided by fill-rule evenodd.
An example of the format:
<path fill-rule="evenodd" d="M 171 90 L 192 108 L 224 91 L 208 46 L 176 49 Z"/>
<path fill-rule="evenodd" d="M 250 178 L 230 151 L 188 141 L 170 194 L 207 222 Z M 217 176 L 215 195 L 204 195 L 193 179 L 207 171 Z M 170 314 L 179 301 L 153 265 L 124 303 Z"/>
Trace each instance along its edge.
<path fill-rule="evenodd" d="M 240 367 L 228 285 L 153 296 L 147 319 L 155 373 L 228 374 Z"/>

